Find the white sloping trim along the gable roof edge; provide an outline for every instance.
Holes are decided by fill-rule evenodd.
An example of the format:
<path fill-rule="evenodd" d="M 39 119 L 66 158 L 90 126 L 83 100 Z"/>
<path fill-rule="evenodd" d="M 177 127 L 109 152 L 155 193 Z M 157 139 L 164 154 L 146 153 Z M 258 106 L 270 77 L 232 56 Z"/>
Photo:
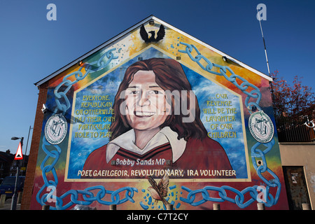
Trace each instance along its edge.
<path fill-rule="evenodd" d="M 200 43 L 201 45 L 204 45 L 206 48 L 209 48 L 209 49 L 213 50 L 214 52 L 217 52 L 218 54 L 227 57 L 231 61 L 239 64 L 240 66 L 243 66 L 244 68 L 248 69 L 249 71 L 253 71 L 253 73 L 256 73 L 259 76 L 262 76 L 262 78 L 266 78 L 267 80 L 272 81 L 272 78 L 267 76 L 265 73 L 262 73 L 262 72 L 260 72 L 260 71 L 258 71 L 256 69 L 253 69 L 251 66 L 248 66 L 248 65 L 244 64 L 243 62 L 239 62 L 239 60 L 237 60 L 237 59 L 235 59 L 233 57 L 230 57 L 229 55 L 226 55 L 224 52 L 221 52 L 220 50 L 218 50 L 216 48 L 211 47 L 211 45 L 208 45 L 207 43 L 204 43 L 204 42 L 198 40 L 197 38 L 195 38 L 193 36 L 190 36 L 189 34 L 186 34 L 185 32 L 181 31 L 180 29 L 177 29 L 176 27 L 173 27 L 172 25 L 169 25 L 167 22 L 164 22 L 164 21 L 162 21 L 162 20 L 160 20 L 158 18 L 155 18 L 155 16 L 151 15 L 148 18 L 142 20 L 141 22 L 138 22 L 136 25 L 130 27 L 129 29 L 126 29 L 122 33 L 118 34 L 117 36 L 114 36 L 113 38 L 109 39 L 109 41 L 106 41 L 105 43 L 102 43 L 97 48 L 94 48 L 93 50 L 90 50 L 89 52 L 85 53 L 81 57 L 78 57 L 78 59 L 76 59 L 73 62 L 67 64 L 66 66 L 63 66 L 61 69 L 58 69 L 57 71 L 55 71 L 54 73 L 50 74 L 49 76 L 43 78 L 42 80 L 39 80 L 37 83 L 34 83 L 34 85 L 36 85 L 36 86 L 42 85 L 46 81 L 48 81 L 51 78 L 57 76 L 59 73 L 62 73 L 62 71 L 65 71 L 66 69 L 69 69 L 74 64 L 82 61 L 86 57 L 89 57 L 90 55 L 94 54 L 94 52 L 97 52 L 98 50 L 101 50 L 102 48 L 105 48 L 106 45 L 109 45 L 113 41 L 116 41 L 118 38 L 121 38 L 122 36 L 125 36 L 125 34 L 128 34 L 133 29 L 136 29 L 140 25 L 142 25 L 142 24 L 144 24 L 144 23 L 146 23 L 146 22 L 148 22 L 150 20 L 155 20 L 155 21 L 159 22 L 160 24 L 165 25 L 166 27 L 174 29 L 175 31 L 179 32 L 180 34 L 183 34 L 184 36 L 187 36 L 188 38 L 193 39 L 193 41 L 196 41 L 197 43 Z"/>

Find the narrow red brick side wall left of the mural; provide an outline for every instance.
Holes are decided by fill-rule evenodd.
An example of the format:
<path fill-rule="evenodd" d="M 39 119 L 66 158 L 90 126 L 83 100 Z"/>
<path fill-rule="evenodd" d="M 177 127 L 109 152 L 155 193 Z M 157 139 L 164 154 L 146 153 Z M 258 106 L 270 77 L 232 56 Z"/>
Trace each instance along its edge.
<path fill-rule="evenodd" d="M 39 88 L 38 102 L 36 107 L 36 116 L 31 138 L 31 149 L 29 151 L 29 162 L 27 165 L 27 173 L 25 185 L 22 195 L 21 210 L 29 210 L 31 204 L 31 193 L 33 192 L 34 176 L 36 170 L 36 162 L 38 155 L 39 142 L 41 139 L 41 128 L 43 125 L 43 113 L 41 109 L 46 102 L 48 83 L 43 83 Z"/>

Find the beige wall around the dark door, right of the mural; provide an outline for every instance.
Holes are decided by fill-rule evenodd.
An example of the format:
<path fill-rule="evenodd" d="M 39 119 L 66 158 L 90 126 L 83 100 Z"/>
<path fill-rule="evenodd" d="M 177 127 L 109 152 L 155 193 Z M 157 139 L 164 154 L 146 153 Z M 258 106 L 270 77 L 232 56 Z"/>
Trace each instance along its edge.
<path fill-rule="evenodd" d="M 283 166 L 303 167 L 307 182 L 309 200 L 314 209 L 315 203 L 315 144 L 280 143 L 281 162 Z"/>

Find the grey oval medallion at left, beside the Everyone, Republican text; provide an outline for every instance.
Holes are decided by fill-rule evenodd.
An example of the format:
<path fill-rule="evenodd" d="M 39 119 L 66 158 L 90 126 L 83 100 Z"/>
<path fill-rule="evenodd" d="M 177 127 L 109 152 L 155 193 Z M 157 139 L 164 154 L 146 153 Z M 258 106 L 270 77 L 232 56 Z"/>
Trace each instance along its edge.
<path fill-rule="evenodd" d="M 47 141 L 53 145 L 64 141 L 67 127 L 66 119 L 61 113 L 51 116 L 45 125 L 45 137 Z"/>

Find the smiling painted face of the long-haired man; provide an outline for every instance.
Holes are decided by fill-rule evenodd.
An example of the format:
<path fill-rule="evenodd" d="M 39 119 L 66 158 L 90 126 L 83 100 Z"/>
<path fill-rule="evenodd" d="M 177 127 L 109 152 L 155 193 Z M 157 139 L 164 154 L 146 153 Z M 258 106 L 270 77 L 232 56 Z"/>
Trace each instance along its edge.
<path fill-rule="evenodd" d="M 134 74 L 125 92 L 125 104 L 127 121 L 135 130 L 158 128 L 171 111 L 165 90 L 155 82 L 153 71 L 137 71 Z"/>

